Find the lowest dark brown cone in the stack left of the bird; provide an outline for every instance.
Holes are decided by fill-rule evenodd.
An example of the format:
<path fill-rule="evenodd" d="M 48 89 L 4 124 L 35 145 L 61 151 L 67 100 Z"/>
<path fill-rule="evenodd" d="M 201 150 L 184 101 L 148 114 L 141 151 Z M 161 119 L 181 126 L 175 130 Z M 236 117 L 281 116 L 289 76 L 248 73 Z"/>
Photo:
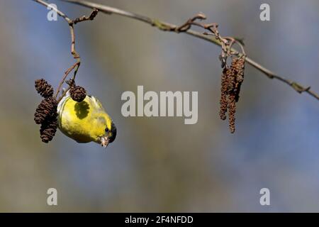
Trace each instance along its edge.
<path fill-rule="evenodd" d="M 57 112 L 41 124 L 40 138 L 43 143 L 49 143 L 57 132 Z"/>

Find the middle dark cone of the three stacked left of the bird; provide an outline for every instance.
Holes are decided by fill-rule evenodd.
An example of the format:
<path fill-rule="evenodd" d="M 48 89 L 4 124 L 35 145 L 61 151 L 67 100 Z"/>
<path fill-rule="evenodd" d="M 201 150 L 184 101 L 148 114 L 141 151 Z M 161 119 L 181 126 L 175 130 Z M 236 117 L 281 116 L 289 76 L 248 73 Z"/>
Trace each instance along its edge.
<path fill-rule="evenodd" d="M 35 109 L 34 121 L 37 124 L 43 123 L 47 118 L 54 116 L 56 112 L 57 101 L 52 97 L 43 99 Z"/>

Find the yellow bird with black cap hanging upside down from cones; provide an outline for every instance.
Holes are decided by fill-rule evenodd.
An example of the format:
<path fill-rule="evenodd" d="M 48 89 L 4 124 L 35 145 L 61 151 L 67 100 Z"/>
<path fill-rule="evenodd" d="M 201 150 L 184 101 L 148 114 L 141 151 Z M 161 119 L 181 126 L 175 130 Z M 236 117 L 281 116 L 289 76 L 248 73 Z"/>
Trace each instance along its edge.
<path fill-rule="evenodd" d="M 74 101 L 67 92 L 57 105 L 57 126 L 77 143 L 99 143 L 106 148 L 116 138 L 116 126 L 101 102 L 86 95 L 83 101 Z"/>

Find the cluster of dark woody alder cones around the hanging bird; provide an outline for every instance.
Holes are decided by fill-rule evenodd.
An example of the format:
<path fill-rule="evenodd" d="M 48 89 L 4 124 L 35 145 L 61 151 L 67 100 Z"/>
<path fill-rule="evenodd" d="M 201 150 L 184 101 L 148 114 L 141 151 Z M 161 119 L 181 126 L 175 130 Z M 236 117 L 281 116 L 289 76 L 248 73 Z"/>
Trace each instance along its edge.
<path fill-rule="evenodd" d="M 70 96 L 74 101 L 83 101 L 86 97 L 86 90 L 76 86 L 74 80 L 70 79 Z M 51 84 L 45 79 L 35 80 L 35 89 L 43 97 L 43 100 L 35 109 L 34 121 L 40 124 L 40 138 L 43 143 L 49 143 L 57 132 L 57 99 L 53 96 L 54 90 Z"/>

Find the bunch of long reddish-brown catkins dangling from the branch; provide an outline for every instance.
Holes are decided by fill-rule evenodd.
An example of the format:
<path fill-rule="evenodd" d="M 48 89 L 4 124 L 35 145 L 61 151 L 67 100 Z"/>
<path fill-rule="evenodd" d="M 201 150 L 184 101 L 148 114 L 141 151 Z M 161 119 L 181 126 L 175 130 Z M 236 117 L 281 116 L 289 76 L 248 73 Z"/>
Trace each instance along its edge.
<path fill-rule="evenodd" d="M 244 81 L 245 56 L 233 57 L 230 66 L 223 65 L 221 78 L 220 119 L 225 120 L 228 112 L 229 128 L 235 133 L 236 102 L 239 99 L 240 86 Z"/>

